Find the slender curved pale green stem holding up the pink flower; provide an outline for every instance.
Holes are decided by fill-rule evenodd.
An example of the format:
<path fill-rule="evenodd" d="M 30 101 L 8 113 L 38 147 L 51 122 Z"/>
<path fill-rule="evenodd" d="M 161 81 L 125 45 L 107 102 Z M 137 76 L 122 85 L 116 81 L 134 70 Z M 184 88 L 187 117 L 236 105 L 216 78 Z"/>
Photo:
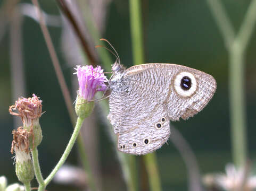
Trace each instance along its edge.
<path fill-rule="evenodd" d="M 72 147 L 74 146 L 77 137 L 79 135 L 81 126 L 82 126 L 82 122 L 84 121 L 84 118 L 77 118 L 77 124 L 76 127 L 73 131 L 73 134 L 69 140 L 69 143 L 64 151 L 64 153 L 61 156 L 60 161 L 56 164 L 56 166 L 54 167 L 54 169 L 52 170 L 52 172 L 49 174 L 49 176 L 45 179 L 45 185 L 48 185 L 49 182 L 53 179 L 53 177 L 55 176 L 56 172 L 61 168 L 61 166 L 64 164 L 64 162 L 67 160 L 69 153 L 72 150 Z"/>

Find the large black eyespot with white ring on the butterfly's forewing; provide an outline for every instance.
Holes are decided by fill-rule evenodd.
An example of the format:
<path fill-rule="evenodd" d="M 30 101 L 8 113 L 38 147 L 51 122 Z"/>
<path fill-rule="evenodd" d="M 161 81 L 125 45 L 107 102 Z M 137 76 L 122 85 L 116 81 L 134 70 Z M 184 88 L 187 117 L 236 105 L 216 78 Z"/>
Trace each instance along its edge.
<path fill-rule="evenodd" d="M 174 88 L 182 97 L 190 97 L 196 91 L 196 79 L 192 73 L 181 72 L 174 80 Z"/>

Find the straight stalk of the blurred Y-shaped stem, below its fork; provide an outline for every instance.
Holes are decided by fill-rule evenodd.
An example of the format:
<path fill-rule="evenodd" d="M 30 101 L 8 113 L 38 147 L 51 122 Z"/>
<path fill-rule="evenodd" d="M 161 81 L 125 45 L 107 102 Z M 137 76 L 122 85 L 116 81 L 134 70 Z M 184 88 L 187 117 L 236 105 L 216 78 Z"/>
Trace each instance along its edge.
<path fill-rule="evenodd" d="M 236 166 L 246 162 L 246 109 L 244 95 L 244 55 L 239 44 L 229 52 L 229 98 L 233 159 Z"/>

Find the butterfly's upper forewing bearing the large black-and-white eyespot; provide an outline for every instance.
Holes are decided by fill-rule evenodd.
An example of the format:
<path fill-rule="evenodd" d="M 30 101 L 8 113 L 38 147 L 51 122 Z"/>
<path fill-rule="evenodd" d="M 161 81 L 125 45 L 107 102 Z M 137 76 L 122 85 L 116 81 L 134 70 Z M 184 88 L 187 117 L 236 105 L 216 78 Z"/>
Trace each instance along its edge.
<path fill-rule="evenodd" d="M 137 65 L 128 68 L 126 76 L 131 81 L 162 87 L 163 98 L 159 101 L 174 121 L 180 117 L 188 119 L 201 111 L 217 88 L 211 75 L 176 64 Z"/>

